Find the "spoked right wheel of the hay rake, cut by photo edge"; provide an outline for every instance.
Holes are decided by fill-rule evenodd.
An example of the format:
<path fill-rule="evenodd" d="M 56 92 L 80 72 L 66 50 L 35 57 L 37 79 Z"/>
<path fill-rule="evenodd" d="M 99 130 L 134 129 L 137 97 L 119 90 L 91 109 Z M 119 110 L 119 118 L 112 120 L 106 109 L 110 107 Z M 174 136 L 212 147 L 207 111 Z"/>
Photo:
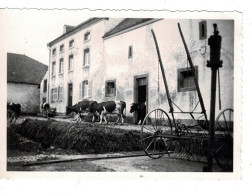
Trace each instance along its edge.
<path fill-rule="evenodd" d="M 226 171 L 233 170 L 233 109 L 223 110 L 216 118 L 214 158 Z"/>

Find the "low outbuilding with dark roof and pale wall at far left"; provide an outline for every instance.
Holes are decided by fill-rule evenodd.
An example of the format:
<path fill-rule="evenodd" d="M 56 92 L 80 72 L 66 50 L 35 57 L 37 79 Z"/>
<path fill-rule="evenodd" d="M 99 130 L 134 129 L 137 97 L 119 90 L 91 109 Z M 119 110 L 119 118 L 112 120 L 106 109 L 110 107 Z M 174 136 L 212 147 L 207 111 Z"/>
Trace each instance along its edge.
<path fill-rule="evenodd" d="M 7 101 L 20 103 L 22 113 L 40 108 L 40 83 L 48 66 L 28 56 L 7 53 Z"/>

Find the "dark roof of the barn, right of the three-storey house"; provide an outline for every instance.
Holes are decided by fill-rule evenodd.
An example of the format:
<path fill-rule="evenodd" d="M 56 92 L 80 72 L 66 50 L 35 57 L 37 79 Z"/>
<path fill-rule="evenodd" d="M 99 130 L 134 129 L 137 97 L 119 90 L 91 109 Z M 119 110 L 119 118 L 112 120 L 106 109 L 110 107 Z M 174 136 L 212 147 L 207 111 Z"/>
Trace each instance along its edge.
<path fill-rule="evenodd" d="M 103 38 L 110 37 L 112 35 L 118 34 L 119 32 L 123 32 L 125 30 L 133 30 L 134 27 L 141 27 L 140 24 L 149 24 L 155 22 L 160 19 L 153 19 L 153 18 L 126 18 L 121 23 L 119 23 L 115 28 L 108 31 Z M 132 28 L 132 29 L 131 29 Z"/>

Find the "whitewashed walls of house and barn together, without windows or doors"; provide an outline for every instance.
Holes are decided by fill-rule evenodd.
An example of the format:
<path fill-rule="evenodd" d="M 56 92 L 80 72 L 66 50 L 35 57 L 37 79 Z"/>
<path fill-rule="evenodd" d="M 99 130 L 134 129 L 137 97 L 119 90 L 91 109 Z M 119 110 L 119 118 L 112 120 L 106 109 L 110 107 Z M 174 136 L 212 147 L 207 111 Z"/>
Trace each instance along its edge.
<path fill-rule="evenodd" d="M 57 49 L 57 54 L 50 58 L 50 72 L 52 62 L 56 62 L 56 76 L 49 75 L 50 89 L 63 86 L 62 101 L 51 102 L 58 113 L 65 113 L 68 98 L 68 83 L 73 84 L 73 104 L 81 101 L 79 98 L 79 84 L 83 80 L 92 81 L 92 95 L 87 98 L 97 102 L 108 100 L 123 100 L 127 104 L 126 115 L 130 104 L 134 102 L 134 77 L 148 75 L 148 111 L 162 108 L 169 112 L 167 96 L 163 84 L 162 74 L 158 65 L 158 57 L 151 34 L 154 30 L 166 79 L 172 101 L 183 111 L 192 111 L 198 102 L 196 91 L 178 92 L 178 69 L 189 66 L 186 52 L 178 31 L 179 22 L 189 48 L 192 61 L 198 68 L 198 82 L 202 92 L 207 115 L 210 112 L 210 81 L 211 69 L 206 67 L 210 59 L 208 38 L 213 34 L 213 23 L 218 24 L 222 36 L 221 59 L 223 67 L 220 69 L 222 109 L 233 108 L 233 79 L 234 79 L 234 22 L 232 20 L 207 20 L 207 38 L 199 39 L 199 22 L 201 20 L 159 20 L 126 33 L 105 38 L 102 36 L 123 19 L 99 21 L 75 34 L 59 41 L 50 49 Z M 90 41 L 84 42 L 84 34 L 91 33 Z M 74 39 L 75 45 L 69 48 L 69 41 Z M 59 53 L 60 45 L 64 43 L 65 50 Z M 128 59 L 128 48 L 133 47 L 133 58 Z M 90 49 L 90 66 L 83 68 L 84 49 Z M 68 71 L 68 57 L 74 56 L 74 69 Z M 59 60 L 64 58 L 64 73 L 59 75 Z M 105 97 L 105 82 L 116 80 L 116 96 Z M 160 90 L 158 91 L 158 83 Z M 49 91 L 51 92 L 51 90 Z M 51 98 L 51 95 L 49 96 Z M 218 94 L 217 94 L 218 98 Z M 176 107 L 175 111 L 178 111 Z M 201 111 L 198 105 L 196 111 Z M 219 113 L 218 101 L 216 113 Z M 175 118 L 190 119 L 189 115 L 176 115 Z"/>

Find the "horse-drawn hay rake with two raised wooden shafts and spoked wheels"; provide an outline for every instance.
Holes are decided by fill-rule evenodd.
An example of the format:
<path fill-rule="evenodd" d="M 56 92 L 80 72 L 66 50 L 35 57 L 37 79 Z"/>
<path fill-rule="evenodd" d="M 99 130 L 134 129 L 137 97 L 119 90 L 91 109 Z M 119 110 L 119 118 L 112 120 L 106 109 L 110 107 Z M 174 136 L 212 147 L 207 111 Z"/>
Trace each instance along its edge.
<path fill-rule="evenodd" d="M 191 112 L 184 112 L 174 102 L 169 95 L 169 89 L 165 77 L 165 71 L 162 64 L 157 39 L 153 30 L 151 30 L 159 65 L 162 71 L 163 81 L 166 89 L 168 104 L 170 107 L 169 116 L 163 109 L 157 108 L 150 111 L 141 126 L 141 144 L 144 152 L 153 159 L 161 158 L 165 153 L 170 157 L 182 158 L 186 160 L 198 161 L 206 163 L 209 151 L 216 163 L 225 171 L 233 170 L 233 109 L 224 109 L 219 113 L 215 120 L 214 145 L 209 150 L 209 123 L 207 114 L 201 96 L 198 81 L 195 77 L 195 69 L 186 46 L 183 33 L 178 24 L 179 32 L 185 46 L 187 59 L 190 64 L 191 71 L 194 77 L 194 83 L 198 94 L 199 102 Z M 202 112 L 194 112 L 200 104 Z M 174 112 L 173 105 L 180 112 Z M 196 125 L 187 126 L 179 124 L 174 117 L 174 114 L 190 114 Z M 204 116 L 205 122 L 197 120 L 194 114 Z M 201 118 L 200 116 L 199 118 Z M 198 118 L 198 119 L 199 119 Z"/>

